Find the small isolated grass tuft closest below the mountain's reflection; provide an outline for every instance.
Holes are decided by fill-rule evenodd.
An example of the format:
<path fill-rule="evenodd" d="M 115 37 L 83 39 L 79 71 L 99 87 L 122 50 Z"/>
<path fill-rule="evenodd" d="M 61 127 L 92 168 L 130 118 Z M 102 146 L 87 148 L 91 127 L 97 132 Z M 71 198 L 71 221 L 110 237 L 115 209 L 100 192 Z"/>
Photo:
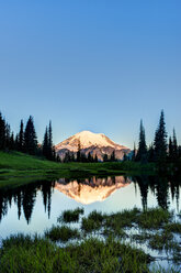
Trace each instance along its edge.
<path fill-rule="evenodd" d="M 80 215 L 83 215 L 83 208 L 77 208 L 73 210 L 65 210 L 60 217 L 58 217 L 58 222 L 78 222 Z"/>

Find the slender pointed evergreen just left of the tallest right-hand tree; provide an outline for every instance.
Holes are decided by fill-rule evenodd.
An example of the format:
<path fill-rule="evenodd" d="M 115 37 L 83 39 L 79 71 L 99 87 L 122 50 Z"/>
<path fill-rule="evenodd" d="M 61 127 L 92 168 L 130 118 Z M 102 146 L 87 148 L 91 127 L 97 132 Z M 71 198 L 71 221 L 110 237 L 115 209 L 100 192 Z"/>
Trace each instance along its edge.
<path fill-rule="evenodd" d="M 146 146 L 145 128 L 143 125 L 143 120 L 140 120 L 139 145 L 136 154 L 136 161 L 139 161 L 142 163 L 147 162 L 147 146 Z"/>

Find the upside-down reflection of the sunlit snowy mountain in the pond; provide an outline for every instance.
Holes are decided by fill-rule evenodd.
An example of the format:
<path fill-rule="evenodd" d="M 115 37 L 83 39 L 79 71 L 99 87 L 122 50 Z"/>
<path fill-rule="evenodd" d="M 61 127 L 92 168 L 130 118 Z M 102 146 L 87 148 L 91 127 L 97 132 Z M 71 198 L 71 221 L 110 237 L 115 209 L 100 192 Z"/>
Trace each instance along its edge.
<path fill-rule="evenodd" d="M 88 205 L 94 201 L 103 201 L 111 194 L 121 187 L 129 185 L 132 181 L 124 176 L 106 178 L 89 178 L 83 181 L 71 181 L 60 178 L 55 183 L 55 188 L 75 199 L 78 203 Z"/>

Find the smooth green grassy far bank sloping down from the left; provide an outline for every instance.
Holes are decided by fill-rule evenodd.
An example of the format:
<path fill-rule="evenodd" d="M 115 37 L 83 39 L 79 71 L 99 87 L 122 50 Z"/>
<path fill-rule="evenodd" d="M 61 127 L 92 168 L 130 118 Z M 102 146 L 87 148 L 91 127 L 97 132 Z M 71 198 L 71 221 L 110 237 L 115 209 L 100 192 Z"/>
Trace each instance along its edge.
<path fill-rule="evenodd" d="M 89 176 L 152 173 L 154 165 L 134 162 L 55 163 L 19 152 L 0 152 L 0 187 L 19 186 L 39 179 L 84 178 Z"/>

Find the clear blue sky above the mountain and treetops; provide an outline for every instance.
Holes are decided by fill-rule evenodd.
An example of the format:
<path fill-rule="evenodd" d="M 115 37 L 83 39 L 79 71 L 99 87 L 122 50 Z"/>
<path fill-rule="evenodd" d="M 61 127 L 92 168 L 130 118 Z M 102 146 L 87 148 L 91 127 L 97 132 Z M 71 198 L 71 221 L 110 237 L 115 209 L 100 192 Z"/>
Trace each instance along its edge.
<path fill-rule="evenodd" d="M 148 143 L 160 110 L 181 143 L 180 0 L 0 0 L 0 110 L 38 140 L 81 130 Z"/>

